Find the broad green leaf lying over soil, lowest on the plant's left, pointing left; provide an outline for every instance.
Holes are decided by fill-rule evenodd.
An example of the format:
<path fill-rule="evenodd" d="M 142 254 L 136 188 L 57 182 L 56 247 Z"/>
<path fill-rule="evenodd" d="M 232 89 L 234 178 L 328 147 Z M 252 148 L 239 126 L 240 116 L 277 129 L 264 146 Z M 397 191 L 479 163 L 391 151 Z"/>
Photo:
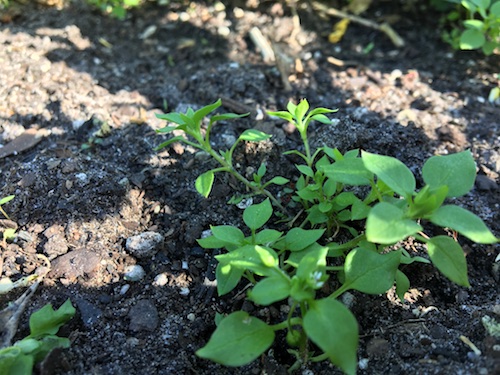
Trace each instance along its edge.
<path fill-rule="evenodd" d="M 225 366 L 243 366 L 266 351 L 273 341 L 270 326 L 245 311 L 236 311 L 221 320 L 207 345 L 196 355 Z"/>

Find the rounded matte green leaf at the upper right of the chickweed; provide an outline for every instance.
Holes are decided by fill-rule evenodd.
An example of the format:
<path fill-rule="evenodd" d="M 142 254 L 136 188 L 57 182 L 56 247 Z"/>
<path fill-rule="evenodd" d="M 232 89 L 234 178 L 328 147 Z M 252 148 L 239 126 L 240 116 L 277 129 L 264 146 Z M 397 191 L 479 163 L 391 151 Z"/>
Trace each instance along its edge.
<path fill-rule="evenodd" d="M 476 179 L 476 164 L 470 151 L 445 156 L 433 156 L 422 168 L 422 176 L 431 188 L 448 186 L 447 197 L 468 193 Z"/>

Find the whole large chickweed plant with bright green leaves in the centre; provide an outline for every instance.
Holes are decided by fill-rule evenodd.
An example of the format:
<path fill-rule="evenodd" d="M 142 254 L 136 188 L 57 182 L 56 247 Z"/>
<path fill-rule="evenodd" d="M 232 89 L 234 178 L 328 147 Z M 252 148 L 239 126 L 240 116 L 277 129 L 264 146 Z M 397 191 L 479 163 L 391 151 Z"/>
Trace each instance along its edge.
<path fill-rule="evenodd" d="M 277 176 L 264 182 L 266 168 L 262 165 L 250 181 L 236 170 L 232 160 L 241 142 L 259 142 L 270 135 L 249 129 L 229 150 L 212 149 L 213 125 L 242 117 L 215 114 L 206 128 L 202 127 L 203 118 L 220 105 L 219 100 L 197 111 L 158 115 L 170 123 L 159 133 L 180 130 L 187 136 L 176 135 L 158 149 L 183 142 L 218 162 L 218 168 L 196 179 L 196 189 L 205 197 L 217 172 L 232 174 L 253 194 L 263 197 L 243 211 L 244 227 L 212 226 L 211 235 L 198 242 L 206 249 L 226 250 L 215 256 L 219 296 L 246 279 L 251 284 L 249 300 L 260 306 L 285 303 L 289 312 L 286 319 L 273 324 L 245 311 L 217 316 L 217 329 L 206 346 L 197 351 L 200 357 L 227 366 L 245 365 L 272 345 L 277 331 L 285 330 L 289 352 L 296 358 L 290 370 L 308 361 L 330 360 L 345 373 L 354 374 L 358 324 L 339 301 L 343 293 L 357 290 L 382 294 L 395 285 L 403 300 L 410 282 L 400 268 L 412 262 L 432 262 L 448 279 L 469 287 L 462 248 L 452 237 L 427 235 L 424 226 L 427 228 L 428 223 L 449 228 L 477 243 L 498 242 L 478 216 L 445 204 L 447 198 L 460 197 L 474 185 L 476 168 L 469 151 L 428 159 L 422 168 L 425 186 L 417 190 L 413 173 L 395 158 L 359 150 L 342 154 L 328 146 L 311 150 L 309 124 L 331 124 L 326 114 L 335 110 L 310 110 L 306 100 L 298 105 L 289 103 L 287 111 L 269 112 L 293 123 L 303 142 L 303 152 L 287 152 L 302 161 L 296 165 L 299 178 L 292 198 L 298 212 L 289 215 L 290 207 L 283 207 L 267 190 L 272 184 L 287 184 L 287 178 Z M 277 219 L 277 213 L 280 218 L 289 215 L 286 231 L 273 229 L 273 215 Z M 408 237 L 426 245 L 430 260 L 412 257 L 400 246 Z"/>

